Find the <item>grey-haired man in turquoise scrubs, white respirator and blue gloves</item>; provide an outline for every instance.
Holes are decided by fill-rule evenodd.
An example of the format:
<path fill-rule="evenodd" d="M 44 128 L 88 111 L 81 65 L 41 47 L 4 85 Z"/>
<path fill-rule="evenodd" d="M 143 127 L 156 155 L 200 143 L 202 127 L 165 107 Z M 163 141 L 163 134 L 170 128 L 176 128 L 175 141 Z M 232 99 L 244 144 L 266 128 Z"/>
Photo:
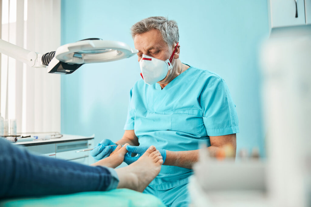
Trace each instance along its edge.
<path fill-rule="evenodd" d="M 142 79 L 130 91 L 125 133 L 116 143 L 131 145 L 124 157 L 128 164 L 147 146 L 156 146 L 164 164 L 144 192 L 168 206 L 188 206 L 187 183 L 198 160 L 198 143 L 205 141 L 211 155 L 231 145 L 235 156 L 239 133 L 235 105 L 222 78 L 179 60 L 175 21 L 149 17 L 133 25 L 131 32 Z M 113 144 L 103 140 L 92 156 L 97 160 L 109 156 Z"/>

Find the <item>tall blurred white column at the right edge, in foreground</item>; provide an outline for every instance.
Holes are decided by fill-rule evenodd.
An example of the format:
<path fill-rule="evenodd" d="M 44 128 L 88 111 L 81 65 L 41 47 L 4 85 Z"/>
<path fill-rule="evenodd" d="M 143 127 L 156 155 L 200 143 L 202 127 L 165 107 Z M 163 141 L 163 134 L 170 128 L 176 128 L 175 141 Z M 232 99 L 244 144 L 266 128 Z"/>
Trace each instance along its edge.
<path fill-rule="evenodd" d="M 274 30 L 262 47 L 273 206 L 311 206 L 311 26 Z"/>

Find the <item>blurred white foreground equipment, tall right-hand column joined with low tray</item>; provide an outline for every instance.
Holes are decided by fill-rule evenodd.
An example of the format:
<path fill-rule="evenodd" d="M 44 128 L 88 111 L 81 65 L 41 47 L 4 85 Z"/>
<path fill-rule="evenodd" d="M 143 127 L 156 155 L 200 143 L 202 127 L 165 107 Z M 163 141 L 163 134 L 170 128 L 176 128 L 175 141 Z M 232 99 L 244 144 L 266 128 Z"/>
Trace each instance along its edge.
<path fill-rule="evenodd" d="M 311 206 L 311 28 L 280 28 L 261 52 L 267 160 L 201 153 L 189 183 L 193 206 Z"/>

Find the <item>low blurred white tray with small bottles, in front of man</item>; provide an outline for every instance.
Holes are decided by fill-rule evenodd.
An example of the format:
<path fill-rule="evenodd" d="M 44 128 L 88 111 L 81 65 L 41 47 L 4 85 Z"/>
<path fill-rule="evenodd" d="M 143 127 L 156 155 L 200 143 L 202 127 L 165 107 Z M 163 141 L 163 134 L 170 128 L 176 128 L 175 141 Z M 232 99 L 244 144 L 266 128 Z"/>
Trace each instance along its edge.
<path fill-rule="evenodd" d="M 221 156 L 208 154 L 207 147 L 201 146 L 200 160 L 189 179 L 193 206 L 269 206 L 266 160 L 248 157 L 243 150 L 235 161 L 230 146 L 223 147 Z"/>

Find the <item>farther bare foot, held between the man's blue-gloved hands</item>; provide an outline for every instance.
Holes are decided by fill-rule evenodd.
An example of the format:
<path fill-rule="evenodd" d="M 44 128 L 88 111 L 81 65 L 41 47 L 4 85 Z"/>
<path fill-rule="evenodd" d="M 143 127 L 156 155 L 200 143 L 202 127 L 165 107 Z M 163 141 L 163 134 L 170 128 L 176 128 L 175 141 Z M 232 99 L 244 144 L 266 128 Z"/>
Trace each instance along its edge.
<path fill-rule="evenodd" d="M 117 146 L 117 148 L 109 155 L 98 162 L 91 164 L 92 166 L 101 165 L 110 168 L 118 167 L 124 160 L 124 155 L 128 152 L 126 150 L 126 146 L 129 144 L 125 144 L 123 147 L 121 145 Z"/>

